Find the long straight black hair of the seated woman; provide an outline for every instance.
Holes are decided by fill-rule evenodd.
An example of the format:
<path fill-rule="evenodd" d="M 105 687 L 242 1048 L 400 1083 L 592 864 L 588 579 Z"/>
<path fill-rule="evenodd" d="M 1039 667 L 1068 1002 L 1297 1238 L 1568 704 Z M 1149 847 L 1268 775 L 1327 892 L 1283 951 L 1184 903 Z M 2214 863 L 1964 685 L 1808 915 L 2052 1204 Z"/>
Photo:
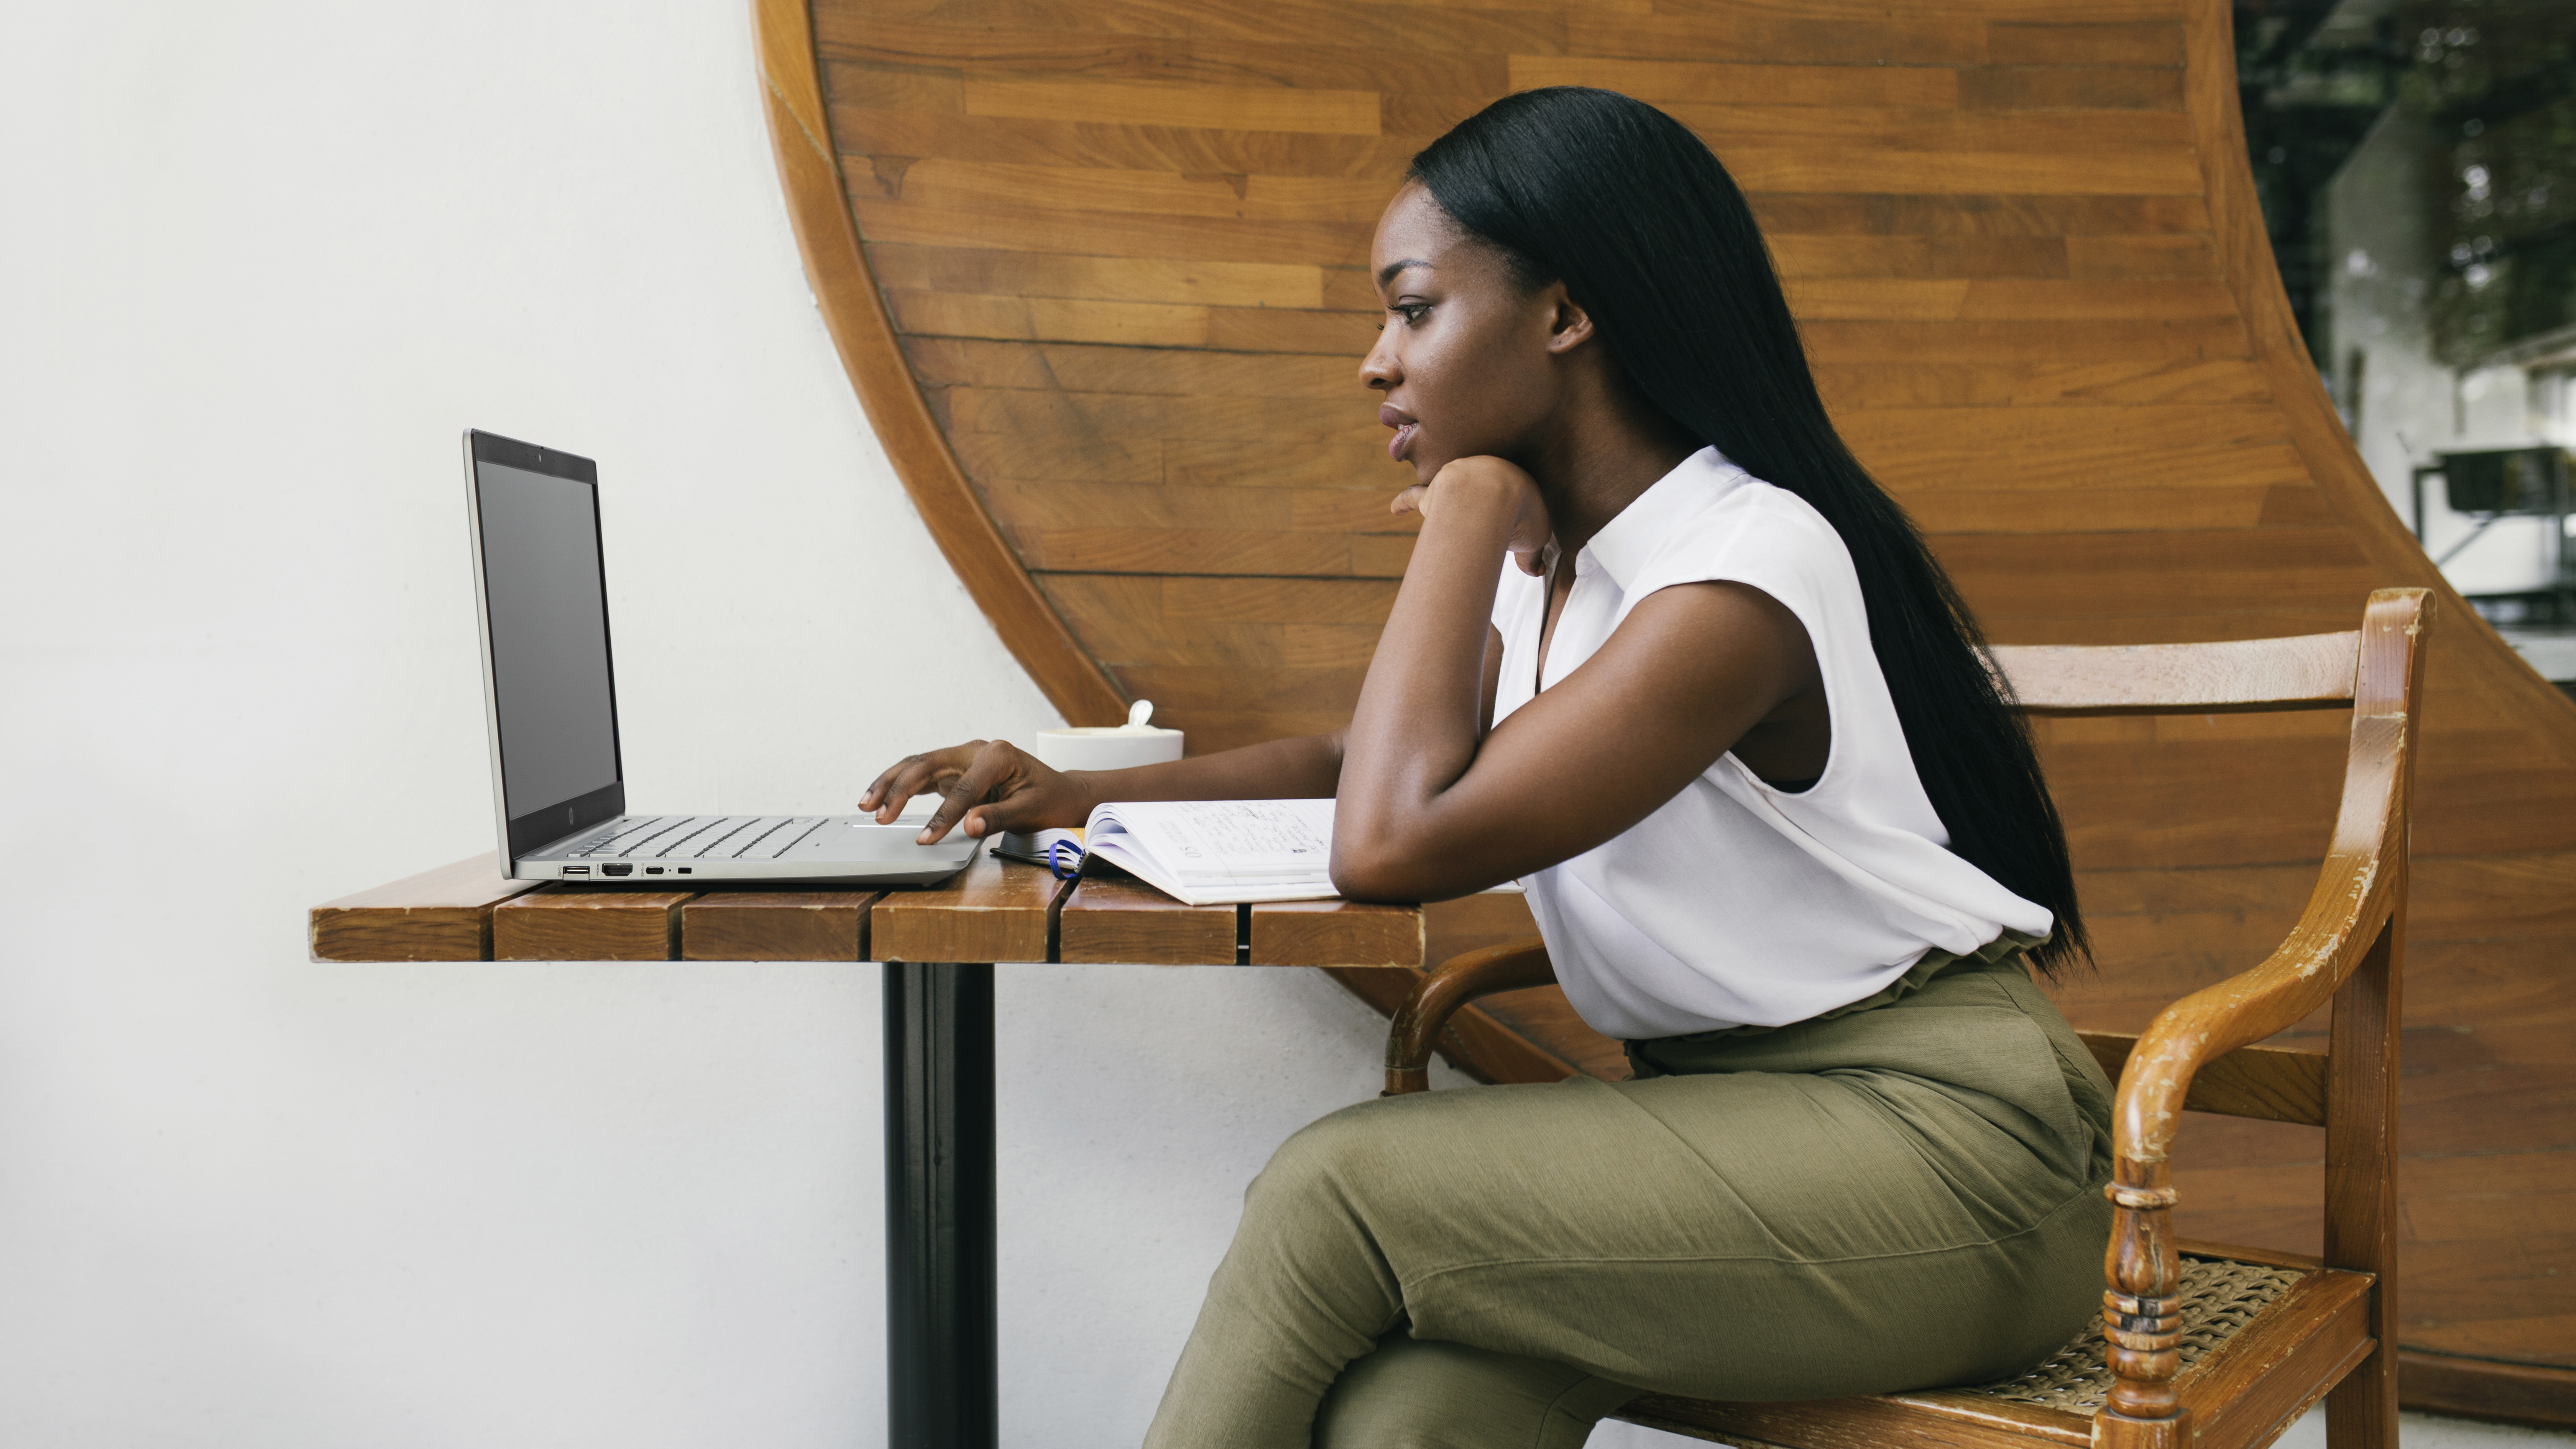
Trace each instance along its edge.
<path fill-rule="evenodd" d="M 1736 467 L 1808 500 L 1860 570 L 1870 647 L 1950 851 L 2045 905 L 2050 977 L 2092 959 L 2066 828 L 1984 634 L 1906 511 L 1834 433 L 1752 206 L 1680 121 L 1613 90 L 1507 95 L 1412 180 L 1525 286 L 1564 281 L 1636 389 Z"/>

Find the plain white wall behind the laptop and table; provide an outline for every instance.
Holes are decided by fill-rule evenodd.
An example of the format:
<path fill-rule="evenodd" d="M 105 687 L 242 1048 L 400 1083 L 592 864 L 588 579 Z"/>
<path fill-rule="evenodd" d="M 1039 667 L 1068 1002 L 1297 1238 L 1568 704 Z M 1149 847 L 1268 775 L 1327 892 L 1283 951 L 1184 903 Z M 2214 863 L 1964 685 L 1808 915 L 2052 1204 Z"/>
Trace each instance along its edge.
<path fill-rule="evenodd" d="M 301 938 L 492 843 L 466 425 L 600 459 L 639 804 L 1054 722 L 814 317 L 744 10 L 0 13 L 0 1444 L 881 1441 L 873 967 Z M 1133 1444 L 1376 1024 L 999 998 L 1007 1439 Z"/>

